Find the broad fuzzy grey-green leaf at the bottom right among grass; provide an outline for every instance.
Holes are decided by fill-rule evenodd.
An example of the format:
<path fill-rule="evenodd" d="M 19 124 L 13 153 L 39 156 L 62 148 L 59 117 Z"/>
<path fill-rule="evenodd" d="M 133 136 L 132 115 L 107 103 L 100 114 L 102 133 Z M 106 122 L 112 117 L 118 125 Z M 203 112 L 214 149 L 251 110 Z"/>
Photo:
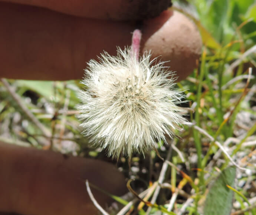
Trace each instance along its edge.
<path fill-rule="evenodd" d="M 204 205 L 204 215 L 229 215 L 232 208 L 233 187 L 236 177 L 235 166 L 224 169 L 211 186 Z"/>

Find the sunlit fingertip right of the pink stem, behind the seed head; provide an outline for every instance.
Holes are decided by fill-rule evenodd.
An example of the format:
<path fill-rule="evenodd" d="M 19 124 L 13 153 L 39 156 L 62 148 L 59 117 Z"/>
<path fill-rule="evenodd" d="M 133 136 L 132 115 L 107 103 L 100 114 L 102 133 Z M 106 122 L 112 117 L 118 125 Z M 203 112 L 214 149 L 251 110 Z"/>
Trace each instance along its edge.
<path fill-rule="evenodd" d="M 176 71 L 177 81 L 185 79 L 201 55 L 202 41 L 196 25 L 178 11 L 164 11 L 161 16 L 144 22 L 142 51 L 151 50 L 166 66 Z M 146 39 L 145 39 L 146 38 Z"/>

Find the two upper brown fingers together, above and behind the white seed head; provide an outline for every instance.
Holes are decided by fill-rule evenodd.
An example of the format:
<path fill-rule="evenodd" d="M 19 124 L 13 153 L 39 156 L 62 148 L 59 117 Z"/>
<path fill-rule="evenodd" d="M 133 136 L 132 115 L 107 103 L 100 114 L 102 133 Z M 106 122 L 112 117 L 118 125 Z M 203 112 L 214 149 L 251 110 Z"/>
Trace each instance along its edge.
<path fill-rule="evenodd" d="M 143 11 L 140 6 L 148 2 L 6 1 L 0 2 L 0 77 L 39 80 L 81 79 L 89 59 L 96 59 L 103 50 L 115 55 L 116 46 L 129 46 L 131 32 L 138 27 L 131 19 L 137 19 L 138 11 Z M 163 10 L 166 5 L 153 6 Z M 196 67 L 200 34 L 182 14 L 164 11 L 144 20 L 141 30 L 141 51 L 151 50 L 152 57 L 161 55 L 170 61 L 166 66 L 177 71 L 179 80 Z"/>

